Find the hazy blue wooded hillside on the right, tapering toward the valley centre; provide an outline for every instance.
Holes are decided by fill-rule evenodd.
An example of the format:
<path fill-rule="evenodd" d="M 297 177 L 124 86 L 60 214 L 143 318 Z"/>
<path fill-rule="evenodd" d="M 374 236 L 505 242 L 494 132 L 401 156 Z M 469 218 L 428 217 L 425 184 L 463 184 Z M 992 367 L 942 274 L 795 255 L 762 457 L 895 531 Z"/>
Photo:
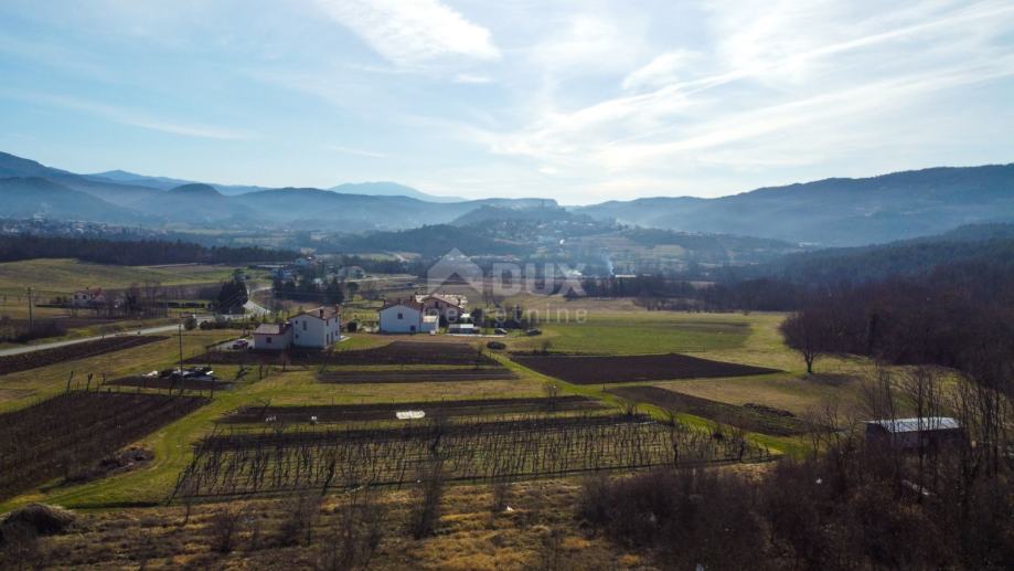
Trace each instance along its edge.
<path fill-rule="evenodd" d="M 709 200 L 653 198 L 575 210 L 652 228 L 861 245 L 1014 220 L 1014 165 L 933 168 Z"/>

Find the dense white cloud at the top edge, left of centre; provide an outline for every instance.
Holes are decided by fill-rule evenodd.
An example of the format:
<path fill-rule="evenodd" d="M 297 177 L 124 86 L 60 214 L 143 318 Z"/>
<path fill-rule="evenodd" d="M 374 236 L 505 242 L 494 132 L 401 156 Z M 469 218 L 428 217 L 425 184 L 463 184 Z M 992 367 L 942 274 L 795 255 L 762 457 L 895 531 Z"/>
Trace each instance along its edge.
<path fill-rule="evenodd" d="M 495 60 L 492 34 L 437 0 L 317 0 L 391 62 L 417 66 L 448 56 Z"/>

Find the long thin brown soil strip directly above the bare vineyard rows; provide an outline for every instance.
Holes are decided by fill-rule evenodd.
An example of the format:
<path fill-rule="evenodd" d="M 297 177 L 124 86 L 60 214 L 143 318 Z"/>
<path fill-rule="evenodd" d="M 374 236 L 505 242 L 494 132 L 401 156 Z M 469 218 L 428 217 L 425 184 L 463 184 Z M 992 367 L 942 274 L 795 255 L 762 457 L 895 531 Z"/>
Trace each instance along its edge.
<path fill-rule="evenodd" d="M 597 400 L 567 395 L 556 399 L 471 399 L 462 401 L 399 402 L 383 404 L 334 404 L 318 406 L 244 406 L 222 419 L 226 423 L 259 423 L 268 416 L 276 422 L 383 421 L 395 420 L 397 411 L 424 411 L 426 416 L 479 416 L 536 412 L 590 411 L 604 409 Z"/>

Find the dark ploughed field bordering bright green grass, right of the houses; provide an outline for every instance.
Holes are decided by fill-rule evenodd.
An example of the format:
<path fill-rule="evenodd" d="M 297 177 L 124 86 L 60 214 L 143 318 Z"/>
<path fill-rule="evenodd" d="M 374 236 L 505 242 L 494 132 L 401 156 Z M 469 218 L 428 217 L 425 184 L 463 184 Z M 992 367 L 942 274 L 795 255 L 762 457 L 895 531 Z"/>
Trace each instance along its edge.
<path fill-rule="evenodd" d="M 511 359 L 549 377 L 575 384 L 746 377 L 767 374 L 775 369 L 711 361 L 679 353 L 609 356 L 523 356 Z"/>

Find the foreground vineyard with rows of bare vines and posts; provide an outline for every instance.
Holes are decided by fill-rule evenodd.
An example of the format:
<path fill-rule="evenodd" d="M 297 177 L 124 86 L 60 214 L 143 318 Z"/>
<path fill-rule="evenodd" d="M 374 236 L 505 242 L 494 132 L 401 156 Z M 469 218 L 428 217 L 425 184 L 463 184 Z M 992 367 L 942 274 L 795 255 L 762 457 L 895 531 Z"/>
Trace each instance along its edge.
<path fill-rule="evenodd" d="M 247 495 L 768 459 L 732 434 L 640 415 L 429 421 L 397 429 L 233 431 L 196 446 L 174 495 Z"/>

